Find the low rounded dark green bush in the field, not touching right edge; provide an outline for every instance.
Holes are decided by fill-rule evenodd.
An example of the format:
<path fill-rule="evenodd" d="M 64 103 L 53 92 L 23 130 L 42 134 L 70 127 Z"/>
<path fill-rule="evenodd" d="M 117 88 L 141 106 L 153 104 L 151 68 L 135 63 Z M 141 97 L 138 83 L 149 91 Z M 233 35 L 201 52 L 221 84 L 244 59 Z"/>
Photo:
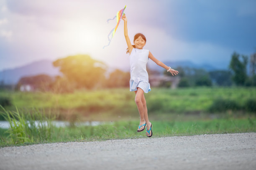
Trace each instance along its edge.
<path fill-rule="evenodd" d="M 209 107 L 210 112 L 223 112 L 226 110 L 238 110 L 241 107 L 238 105 L 237 102 L 229 99 L 216 99 Z"/>

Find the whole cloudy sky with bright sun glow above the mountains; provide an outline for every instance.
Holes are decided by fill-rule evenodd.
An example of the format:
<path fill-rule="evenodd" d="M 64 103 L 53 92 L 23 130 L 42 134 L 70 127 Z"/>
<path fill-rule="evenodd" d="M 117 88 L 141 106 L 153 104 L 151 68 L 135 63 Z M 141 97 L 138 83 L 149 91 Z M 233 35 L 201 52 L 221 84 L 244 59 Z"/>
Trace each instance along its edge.
<path fill-rule="evenodd" d="M 125 5 L 132 44 L 143 33 L 162 62 L 227 69 L 234 51 L 256 52 L 256 0 L 0 0 L 0 71 L 77 54 L 129 68 L 123 20 L 102 48 Z"/>

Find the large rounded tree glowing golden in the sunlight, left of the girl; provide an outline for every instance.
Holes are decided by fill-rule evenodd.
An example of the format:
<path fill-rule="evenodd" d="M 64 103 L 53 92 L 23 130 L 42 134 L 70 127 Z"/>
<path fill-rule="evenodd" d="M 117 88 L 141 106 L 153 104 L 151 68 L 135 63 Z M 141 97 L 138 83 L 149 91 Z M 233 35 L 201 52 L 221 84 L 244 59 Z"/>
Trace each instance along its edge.
<path fill-rule="evenodd" d="M 105 76 L 106 65 L 89 55 L 73 55 L 53 62 L 54 67 L 60 67 L 68 81 L 75 83 L 76 88 L 92 89 Z"/>

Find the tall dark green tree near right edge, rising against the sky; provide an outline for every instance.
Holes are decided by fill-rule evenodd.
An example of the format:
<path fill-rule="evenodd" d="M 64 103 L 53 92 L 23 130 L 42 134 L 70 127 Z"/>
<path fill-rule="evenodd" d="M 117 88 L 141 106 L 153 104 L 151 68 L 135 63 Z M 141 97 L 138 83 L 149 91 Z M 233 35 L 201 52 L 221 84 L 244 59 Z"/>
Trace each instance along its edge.
<path fill-rule="evenodd" d="M 247 75 L 246 75 L 246 65 L 248 62 L 248 57 L 242 55 L 243 61 L 240 61 L 240 55 L 236 52 L 233 52 L 229 68 L 233 72 L 232 79 L 236 85 L 244 85 Z"/>

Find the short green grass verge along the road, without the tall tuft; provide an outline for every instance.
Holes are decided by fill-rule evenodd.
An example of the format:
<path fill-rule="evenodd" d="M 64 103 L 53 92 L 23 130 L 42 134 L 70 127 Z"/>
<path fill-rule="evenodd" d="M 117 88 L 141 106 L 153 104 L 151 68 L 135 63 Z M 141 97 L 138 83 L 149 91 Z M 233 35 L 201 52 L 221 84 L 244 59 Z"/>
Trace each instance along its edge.
<path fill-rule="evenodd" d="M 153 124 L 152 138 L 163 136 L 184 136 L 184 135 L 200 135 L 214 133 L 244 133 L 256 131 L 256 119 L 248 117 L 243 119 L 213 119 L 213 120 L 189 120 L 175 121 L 151 120 Z M 137 132 L 138 120 L 124 120 L 116 122 L 105 122 L 98 126 L 77 127 L 52 127 L 51 137 L 46 140 L 34 139 L 34 142 L 11 143 L 7 135 L 12 131 L 3 130 L 0 128 L 0 145 L 27 145 L 33 143 L 52 143 L 52 142 L 80 142 L 80 141 L 95 141 L 108 139 L 124 139 L 124 138 L 147 138 L 145 130 L 141 133 Z M 7 131 L 7 132 L 6 132 Z M 5 133 L 6 135 L 4 135 Z M 39 132 L 38 132 L 39 133 Z"/>

